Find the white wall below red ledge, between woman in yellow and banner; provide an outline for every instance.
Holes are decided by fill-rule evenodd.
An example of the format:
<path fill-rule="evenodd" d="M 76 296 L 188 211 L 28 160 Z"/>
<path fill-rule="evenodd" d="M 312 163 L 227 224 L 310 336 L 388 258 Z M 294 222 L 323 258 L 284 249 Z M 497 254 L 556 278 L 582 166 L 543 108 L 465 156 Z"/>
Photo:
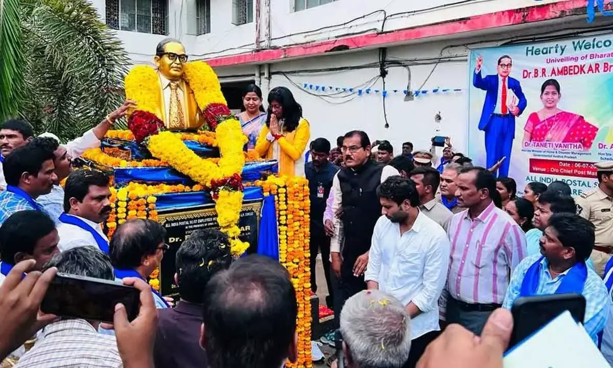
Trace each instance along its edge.
<path fill-rule="evenodd" d="M 443 43 L 429 43 L 417 47 L 395 47 L 388 50 L 389 58 L 423 58 L 438 56 Z M 460 50 L 461 53 L 463 50 Z M 302 69 L 324 69 L 337 66 L 351 66 L 377 61 L 376 50 L 348 53 L 338 56 L 299 59 L 285 63 L 272 64 L 272 86 L 286 86 L 294 92 L 302 105 L 303 115 L 311 123 L 311 139 L 326 137 L 335 145 L 337 136 L 352 129 L 364 130 L 371 140 L 387 139 L 394 146 L 395 153 L 400 153 L 402 143 L 411 141 L 416 149 L 430 147 L 430 138 L 435 135 L 452 137 L 452 144 L 464 151 L 466 140 L 466 61 L 459 59 L 453 63 L 441 63 L 436 66 L 428 80 L 427 76 L 435 64 L 411 66 L 411 86 L 417 88 L 424 84 L 424 89 L 461 88 L 463 91 L 419 96 L 414 101 L 404 101 L 402 90 L 406 89 L 408 72 L 403 67 L 390 67 L 386 77 L 386 90 L 399 90 L 386 98 L 386 114 L 389 128 L 385 128 L 383 113 L 383 82 L 377 80 L 371 85 L 371 93 L 357 95 L 357 88 L 365 90 L 363 84 L 379 75 L 378 67 L 318 74 L 276 74 L 279 71 L 300 71 Z M 295 84 L 299 85 L 296 86 Z M 326 86 L 356 87 L 354 94 L 347 98 L 323 98 L 326 93 L 305 90 L 303 83 Z M 334 93 L 336 91 L 333 91 Z M 440 134 L 435 134 L 438 125 L 434 115 L 440 112 L 443 120 Z"/>

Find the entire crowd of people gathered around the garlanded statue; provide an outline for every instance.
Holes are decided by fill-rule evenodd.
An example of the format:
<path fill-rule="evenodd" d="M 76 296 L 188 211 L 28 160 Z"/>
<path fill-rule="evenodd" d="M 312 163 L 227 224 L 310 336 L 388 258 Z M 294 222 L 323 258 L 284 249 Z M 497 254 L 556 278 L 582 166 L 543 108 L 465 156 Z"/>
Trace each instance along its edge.
<path fill-rule="evenodd" d="M 273 91 L 272 115 L 260 113 L 254 89 L 246 96 L 258 98 L 245 103 L 241 120 L 262 125 L 248 145 L 309 181 L 311 287 L 321 253 L 326 304 L 335 312 L 322 342 L 343 341 L 343 366 L 500 367 L 516 299 L 561 291 L 585 297 L 585 330 L 613 362 L 613 163 L 596 164 L 598 186 L 578 197 L 565 182 L 529 183 L 519 196 L 515 180 L 497 177 L 501 161 L 473 166 L 450 139 L 440 157 L 434 139 L 430 150 L 405 142 L 394 156 L 390 142 L 350 131 L 337 147 L 311 140 L 303 156 L 296 145 L 309 140 L 308 122 L 289 91 Z M 147 283 L 169 248 L 161 224 L 126 221 L 112 239 L 102 232 L 110 178 L 72 171 L 70 161 L 97 147 L 132 104 L 64 145 L 52 134 L 34 137 L 24 121 L 0 125 L 3 364 L 278 368 L 295 361 L 296 296 L 278 261 L 233 261 L 226 235 L 194 231 L 177 250 L 175 301 Z M 137 318 L 129 321 L 121 304 L 113 324 L 41 313 L 58 272 L 134 286 Z"/>

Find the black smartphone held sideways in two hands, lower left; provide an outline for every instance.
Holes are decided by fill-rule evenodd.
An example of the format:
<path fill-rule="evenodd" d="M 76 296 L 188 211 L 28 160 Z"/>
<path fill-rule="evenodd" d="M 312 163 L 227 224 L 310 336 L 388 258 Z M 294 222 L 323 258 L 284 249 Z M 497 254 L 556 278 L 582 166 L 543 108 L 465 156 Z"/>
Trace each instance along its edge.
<path fill-rule="evenodd" d="M 101 278 L 57 274 L 40 310 L 57 316 L 113 323 L 117 303 L 126 307 L 128 320 L 134 320 L 139 314 L 139 290 Z"/>

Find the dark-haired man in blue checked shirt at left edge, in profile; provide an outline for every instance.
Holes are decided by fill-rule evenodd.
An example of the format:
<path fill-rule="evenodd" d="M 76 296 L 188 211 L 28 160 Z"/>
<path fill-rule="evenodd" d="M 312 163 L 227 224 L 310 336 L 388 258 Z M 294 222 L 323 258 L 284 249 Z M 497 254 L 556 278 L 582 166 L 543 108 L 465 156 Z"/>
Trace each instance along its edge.
<path fill-rule="evenodd" d="M 18 211 L 43 210 L 36 198 L 48 194 L 57 179 L 53 152 L 28 144 L 13 150 L 2 169 L 7 187 L 0 193 L 0 224 Z"/>

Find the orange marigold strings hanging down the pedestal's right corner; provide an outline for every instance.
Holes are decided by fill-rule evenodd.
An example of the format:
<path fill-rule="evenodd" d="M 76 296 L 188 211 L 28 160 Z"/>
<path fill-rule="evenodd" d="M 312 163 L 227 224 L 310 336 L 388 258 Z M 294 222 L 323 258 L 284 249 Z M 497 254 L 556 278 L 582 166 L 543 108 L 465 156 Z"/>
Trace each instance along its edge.
<path fill-rule="evenodd" d="M 253 185 L 262 186 L 265 196 L 276 196 L 279 261 L 289 271 L 296 291 L 298 359 L 295 364 L 287 364 L 287 367 L 312 367 L 308 181 L 305 178 L 270 176 Z"/>

